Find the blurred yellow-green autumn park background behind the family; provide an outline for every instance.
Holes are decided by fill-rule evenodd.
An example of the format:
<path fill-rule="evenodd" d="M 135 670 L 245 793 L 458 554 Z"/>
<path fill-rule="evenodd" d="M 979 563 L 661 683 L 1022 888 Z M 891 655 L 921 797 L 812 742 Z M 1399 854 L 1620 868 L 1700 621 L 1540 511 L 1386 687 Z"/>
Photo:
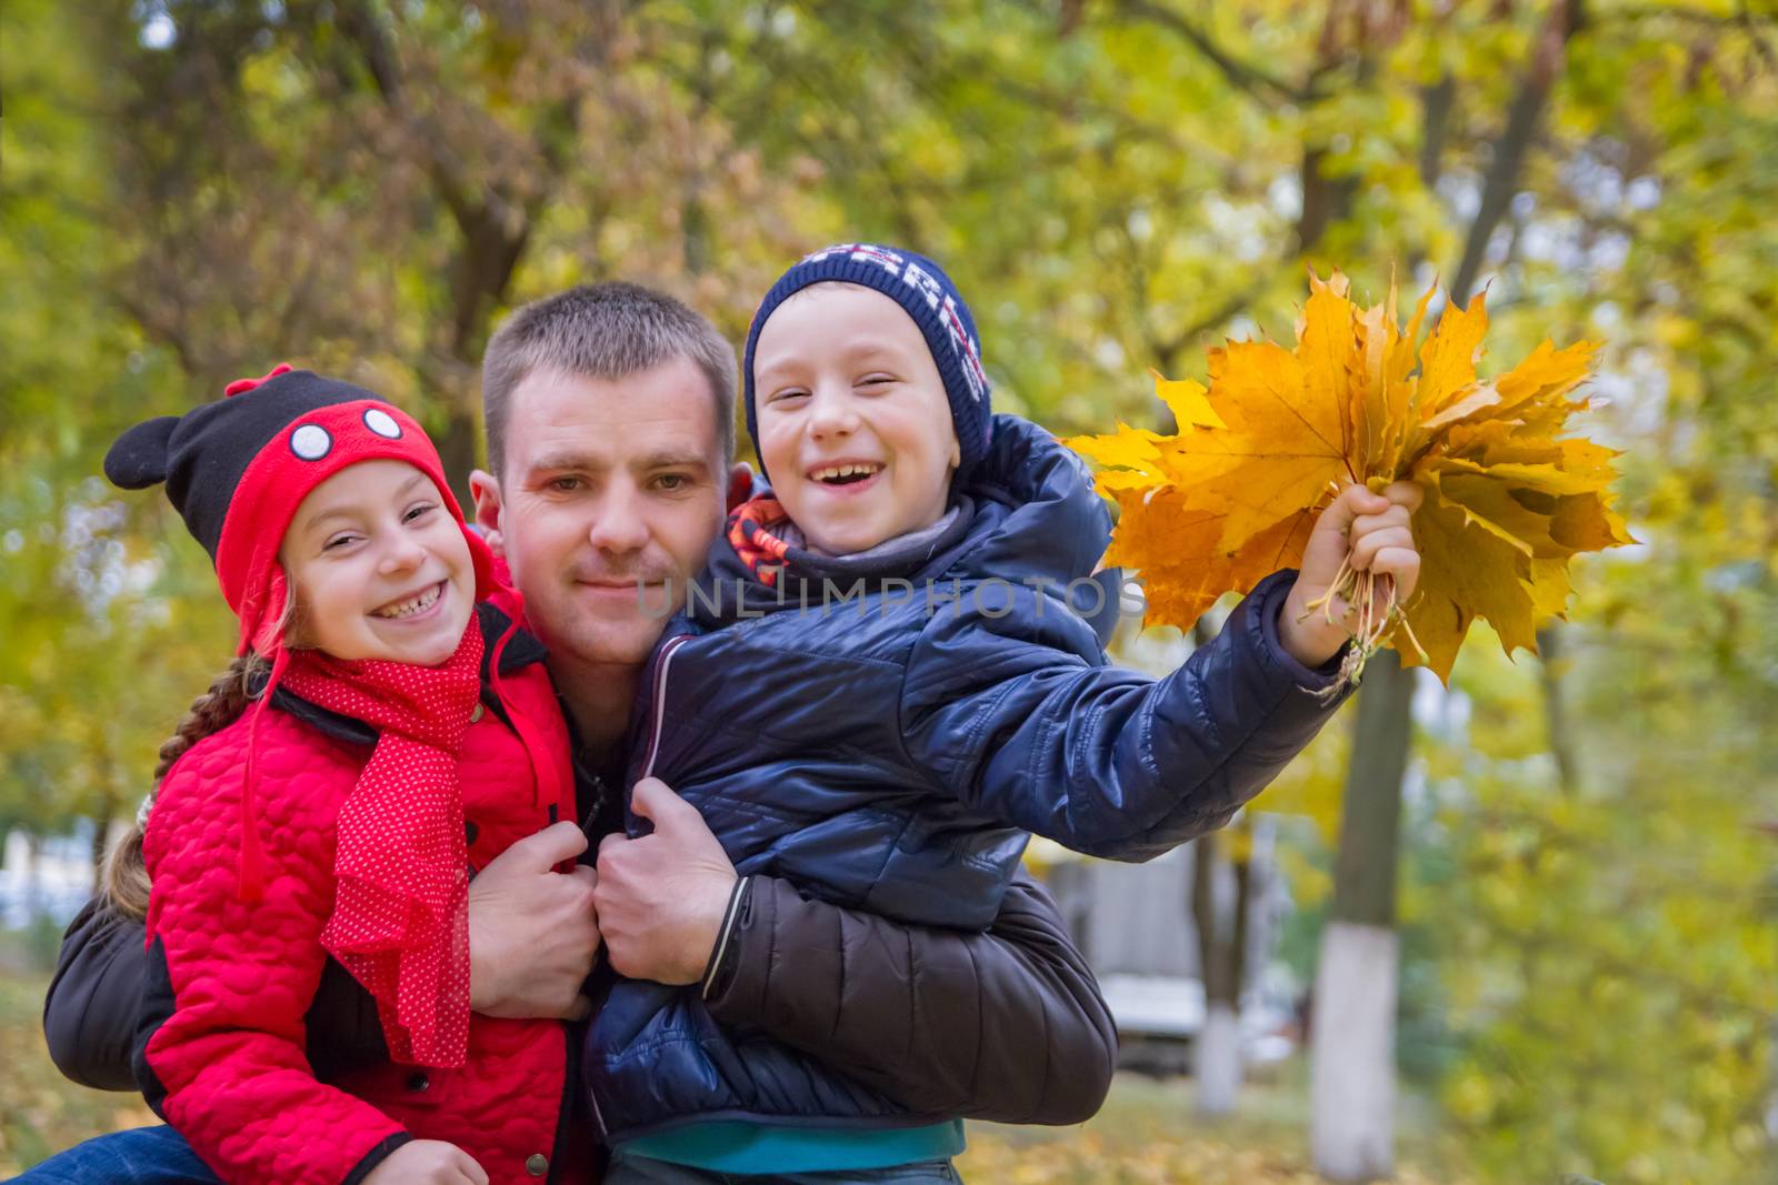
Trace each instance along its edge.
<path fill-rule="evenodd" d="M 871 238 L 946 265 L 997 405 L 1060 433 L 1168 428 L 1147 370 L 1287 341 L 1309 266 L 1486 288 L 1483 373 L 1606 341 L 1582 430 L 1641 540 L 1577 560 L 1542 657 L 1382 663 L 1214 840 L 1037 851 L 1131 1070 L 965 1173 L 1778 1176 L 1773 0 L 7 0 L 0 84 L 0 1173 L 151 1119 L 37 1009 L 233 641 L 164 499 L 98 478 L 114 435 L 288 359 L 462 478 L 514 306 L 621 277 L 740 339 Z M 1138 625 L 1131 663 L 1193 641 Z M 1367 995 L 1317 984 L 1339 933 L 1382 940 Z"/>

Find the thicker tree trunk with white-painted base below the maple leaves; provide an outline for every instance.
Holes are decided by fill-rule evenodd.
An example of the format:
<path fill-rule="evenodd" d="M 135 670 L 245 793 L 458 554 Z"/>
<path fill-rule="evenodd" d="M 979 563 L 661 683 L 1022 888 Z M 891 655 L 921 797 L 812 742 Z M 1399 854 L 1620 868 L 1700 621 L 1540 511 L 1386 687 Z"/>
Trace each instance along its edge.
<path fill-rule="evenodd" d="M 1310 1144 L 1332 1181 L 1394 1169 L 1396 858 L 1412 696 L 1414 675 L 1396 652 L 1376 654 L 1358 693 L 1310 1032 Z"/>

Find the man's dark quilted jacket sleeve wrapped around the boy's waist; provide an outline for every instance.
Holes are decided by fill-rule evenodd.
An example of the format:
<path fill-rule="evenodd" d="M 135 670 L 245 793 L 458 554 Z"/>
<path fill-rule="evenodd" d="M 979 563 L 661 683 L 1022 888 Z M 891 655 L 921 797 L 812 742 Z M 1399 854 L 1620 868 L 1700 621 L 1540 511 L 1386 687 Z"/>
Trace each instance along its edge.
<path fill-rule="evenodd" d="M 706 1006 L 916 1114 L 1083 1123 L 1117 1029 L 1054 901 L 1013 879 L 987 931 L 901 926 L 750 876 Z"/>

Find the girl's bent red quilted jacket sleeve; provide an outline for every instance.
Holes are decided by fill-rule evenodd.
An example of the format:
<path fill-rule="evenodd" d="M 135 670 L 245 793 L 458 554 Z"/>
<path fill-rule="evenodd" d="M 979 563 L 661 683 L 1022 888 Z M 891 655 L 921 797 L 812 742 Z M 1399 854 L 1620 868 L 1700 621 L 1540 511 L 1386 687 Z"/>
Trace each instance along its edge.
<path fill-rule="evenodd" d="M 265 888 L 242 901 L 238 791 L 228 792 L 228 767 L 213 764 L 201 783 L 169 778 L 149 819 L 155 890 L 137 1078 L 224 1181 L 357 1181 L 409 1137 L 318 1082 L 304 1057 L 302 1018 L 332 910 L 331 830 L 293 801 L 297 791 L 258 782 Z"/>

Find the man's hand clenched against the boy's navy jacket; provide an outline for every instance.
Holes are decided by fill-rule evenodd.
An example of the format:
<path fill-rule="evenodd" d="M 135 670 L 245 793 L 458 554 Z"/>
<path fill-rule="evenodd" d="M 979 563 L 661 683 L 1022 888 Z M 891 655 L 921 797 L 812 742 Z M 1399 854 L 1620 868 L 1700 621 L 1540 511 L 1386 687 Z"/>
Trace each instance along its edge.
<path fill-rule="evenodd" d="M 629 808 L 654 823 L 642 839 L 599 842 L 592 899 L 612 966 L 631 979 L 695 984 L 734 892 L 734 865 L 709 828 L 658 778 L 637 782 Z"/>

